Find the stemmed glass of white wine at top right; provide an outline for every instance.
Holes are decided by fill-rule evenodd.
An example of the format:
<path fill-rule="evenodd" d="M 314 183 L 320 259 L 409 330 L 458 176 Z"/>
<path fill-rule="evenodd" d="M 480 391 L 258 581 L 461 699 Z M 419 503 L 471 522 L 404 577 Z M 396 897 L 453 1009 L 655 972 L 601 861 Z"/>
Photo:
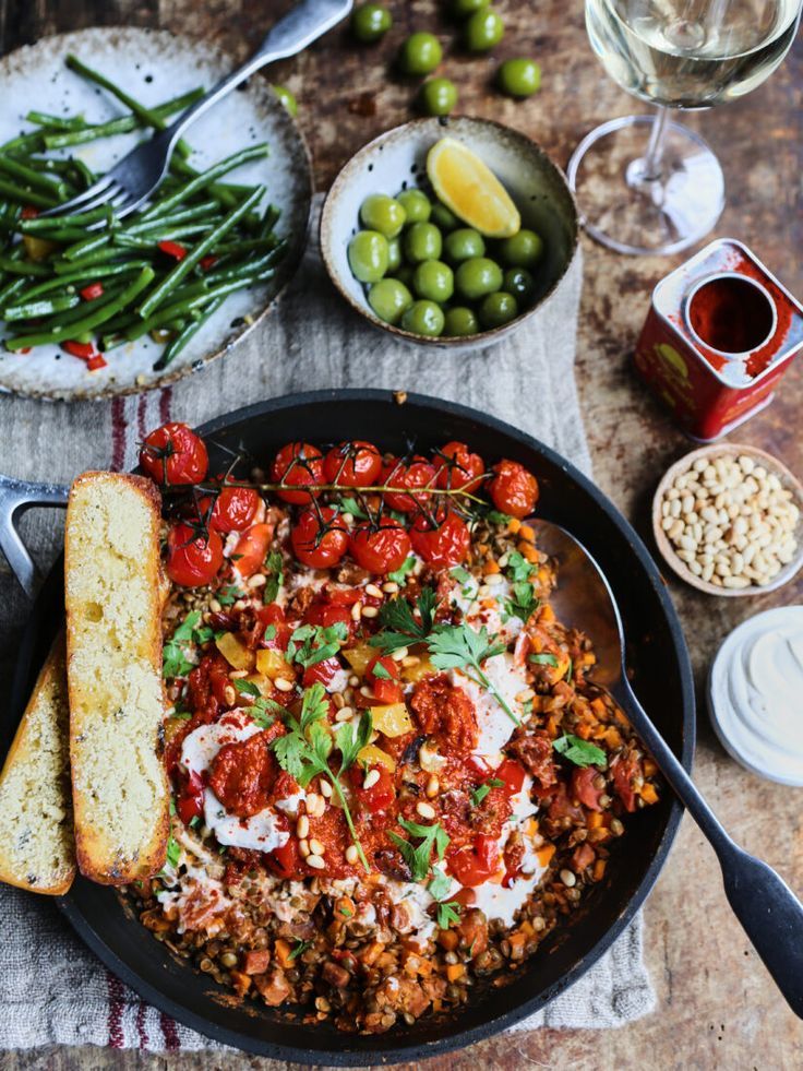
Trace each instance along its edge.
<path fill-rule="evenodd" d="M 586 0 L 606 71 L 655 115 L 592 130 L 568 165 L 586 230 L 622 253 L 673 253 L 724 207 L 717 157 L 669 109 L 711 108 L 759 86 L 782 62 L 803 0 Z"/>

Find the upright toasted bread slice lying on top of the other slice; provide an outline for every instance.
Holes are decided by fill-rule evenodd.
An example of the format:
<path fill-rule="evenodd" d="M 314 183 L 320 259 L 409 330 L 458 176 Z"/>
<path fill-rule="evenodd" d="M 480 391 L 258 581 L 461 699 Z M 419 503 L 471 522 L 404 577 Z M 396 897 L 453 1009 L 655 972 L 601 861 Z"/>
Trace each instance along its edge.
<path fill-rule="evenodd" d="M 64 536 L 70 761 L 79 868 L 125 884 L 165 862 L 160 497 L 139 476 L 84 473 Z"/>

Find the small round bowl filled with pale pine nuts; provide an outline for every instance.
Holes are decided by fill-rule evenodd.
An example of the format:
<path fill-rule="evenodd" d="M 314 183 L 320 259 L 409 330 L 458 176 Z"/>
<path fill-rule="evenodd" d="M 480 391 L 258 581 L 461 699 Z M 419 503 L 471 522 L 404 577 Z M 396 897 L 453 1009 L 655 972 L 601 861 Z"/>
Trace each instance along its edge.
<path fill-rule="evenodd" d="M 716 443 L 658 485 L 652 531 L 667 564 L 709 595 L 758 595 L 803 564 L 803 485 L 771 454 Z"/>

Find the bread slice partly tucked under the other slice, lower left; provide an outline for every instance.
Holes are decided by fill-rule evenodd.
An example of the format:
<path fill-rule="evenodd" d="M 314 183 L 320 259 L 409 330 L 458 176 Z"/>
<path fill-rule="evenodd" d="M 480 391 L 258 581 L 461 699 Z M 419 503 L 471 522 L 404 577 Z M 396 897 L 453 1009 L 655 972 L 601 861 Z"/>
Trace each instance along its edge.
<path fill-rule="evenodd" d="M 75 877 L 70 711 L 60 633 L 0 773 L 0 881 L 59 896 Z"/>

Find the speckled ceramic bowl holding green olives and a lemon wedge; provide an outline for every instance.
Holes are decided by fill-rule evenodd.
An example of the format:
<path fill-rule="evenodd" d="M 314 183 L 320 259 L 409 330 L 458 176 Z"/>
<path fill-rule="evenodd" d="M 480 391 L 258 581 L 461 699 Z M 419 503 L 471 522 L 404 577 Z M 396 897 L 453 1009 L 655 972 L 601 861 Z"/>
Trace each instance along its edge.
<path fill-rule="evenodd" d="M 460 350 L 536 314 L 577 240 L 563 174 L 524 134 L 483 119 L 382 134 L 343 169 L 321 217 L 324 263 L 352 308 L 411 343 Z"/>

